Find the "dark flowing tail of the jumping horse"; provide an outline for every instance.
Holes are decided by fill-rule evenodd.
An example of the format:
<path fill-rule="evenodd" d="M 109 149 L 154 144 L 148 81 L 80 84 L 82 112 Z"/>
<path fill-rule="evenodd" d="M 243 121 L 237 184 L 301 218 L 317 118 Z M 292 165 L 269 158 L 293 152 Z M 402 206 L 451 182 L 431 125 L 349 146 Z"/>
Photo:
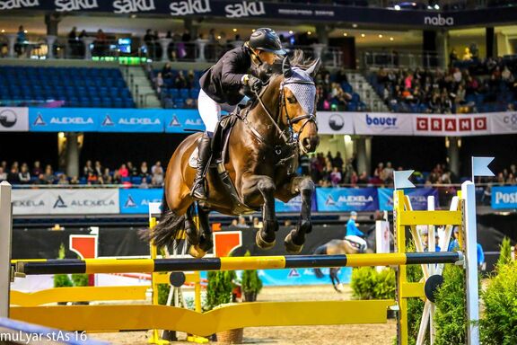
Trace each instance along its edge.
<path fill-rule="evenodd" d="M 150 232 L 150 240 L 158 248 L 173 246 L 178 233 L 185 227 L 185 215 L 178 216 L 169 208 L 165 199 L 165 192 L 162 198 L 162 215 L 160 221 Z"/>

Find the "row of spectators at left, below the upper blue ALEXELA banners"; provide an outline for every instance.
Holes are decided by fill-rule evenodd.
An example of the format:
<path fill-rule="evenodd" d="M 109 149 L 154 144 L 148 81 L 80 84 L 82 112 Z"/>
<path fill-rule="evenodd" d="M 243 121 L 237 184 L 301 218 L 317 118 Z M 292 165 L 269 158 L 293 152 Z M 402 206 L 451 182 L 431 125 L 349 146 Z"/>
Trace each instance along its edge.
<path fill-rule="evenodd" d="M 8 181 L 13 185 L 113 185 L 122 184 L 127 187 L 160 188 L 165 176 L 160 161 L 149 168 L 146 162 L 137 168 L 132 162 L 121 164 L 118 169 L 110 169 L 96 161 L 86 161 L 80 176 L 67 176 L 64 172 L 55 171 L 47 164 L 43 169 L 36 161 L 29 167 L 28 164 L 13 162 L 9 167 L 7 162 L 0 163 L 0 181 Z"/>

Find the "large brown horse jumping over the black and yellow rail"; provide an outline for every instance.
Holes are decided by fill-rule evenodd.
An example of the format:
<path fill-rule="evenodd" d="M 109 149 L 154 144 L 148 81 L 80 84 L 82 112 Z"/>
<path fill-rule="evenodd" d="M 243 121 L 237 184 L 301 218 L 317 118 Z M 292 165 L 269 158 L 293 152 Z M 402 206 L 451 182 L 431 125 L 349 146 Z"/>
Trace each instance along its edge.
<path fill-rule="evenodd" d="M 231 115 L 236 119 L 227 155 L 223 150 L 225 158 L 207 169 L 208 198 L 202 204 L 190 196 L 196 170 L 188 164 L 202 133 L 180 143 L 165 173 L 161 220 L 151 233 L 157 247 L 179 243 L 178 234 L 185 230 L 190 255 L 201 258 L 214 246 L 208 212 L 237 216 L 261 209 L 264 226 L 255 242 L 261 249 L 272 248 L 278 230 L 275 199 L 287 202 L 300 195 L 300 217 L 296 228 L 285 237 L 285 248 L 287 252 L 302 251 L 305 234 L 312 229 L 315 187 L 310 177 L 297 176 L 295 169 L 299 155 L 314 152 L 320 143 L 313 82 L 319 67 L 320 59 L 309 62 L 301 51 L 272 66 L 261 91 L 255 91 L 254 100 Z M 228 191 L 232 188 L 233 193 Z M 198 227 L 194 223 L 196 212 Z"/>

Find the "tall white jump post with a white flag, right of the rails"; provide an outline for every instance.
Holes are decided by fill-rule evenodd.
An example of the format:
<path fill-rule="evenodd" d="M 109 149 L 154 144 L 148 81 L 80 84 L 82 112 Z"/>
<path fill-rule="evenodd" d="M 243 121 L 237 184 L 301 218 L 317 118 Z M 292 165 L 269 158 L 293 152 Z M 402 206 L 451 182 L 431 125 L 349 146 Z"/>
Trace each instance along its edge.
<path fill-rule="evenodd" d="M 467 270 L 467 316 L 469 330 L 467 343 L 479 344 L 479 293 L 478 293 L 478 234 L 476 223 L 476 190 L 474 183 L 461 184 L 463 204 L 463 226 L 465 233 L 465 262 Z"/>

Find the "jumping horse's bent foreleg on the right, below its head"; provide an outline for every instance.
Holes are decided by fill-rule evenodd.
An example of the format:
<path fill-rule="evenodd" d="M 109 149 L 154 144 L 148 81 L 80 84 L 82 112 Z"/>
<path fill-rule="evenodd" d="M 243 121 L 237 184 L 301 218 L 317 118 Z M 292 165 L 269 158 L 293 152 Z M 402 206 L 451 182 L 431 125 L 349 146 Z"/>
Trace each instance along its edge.
<path fill-rule="evenodd" d="M 300 218 L 296 228 L 285 236 L 285 249 L 287 252 L 302 252 L 303 243 L 305 243 L 305 234 L 309 234 L 312 230 L 311 221 L 311 201 L 314 193 L 314 182 L 310 178 L 294 178 L 294 190 L 299 190 L 302 197 L 302 209 Z"/>

